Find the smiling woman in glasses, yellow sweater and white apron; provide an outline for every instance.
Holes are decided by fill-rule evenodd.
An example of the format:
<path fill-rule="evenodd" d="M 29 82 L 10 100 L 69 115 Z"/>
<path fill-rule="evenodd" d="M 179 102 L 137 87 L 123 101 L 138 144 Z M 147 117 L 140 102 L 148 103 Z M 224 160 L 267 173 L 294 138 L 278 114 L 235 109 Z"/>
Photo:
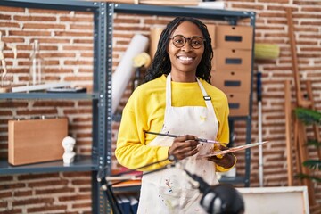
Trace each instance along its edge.
<path fill-rule="evenodd" d="M 173 155 L 209 185 L 218 184 L 216 170 L 234 167 L 233 154 L 197 158 L 226 149 L 229 140 L 226 95 L 210 85 L 212 57 L 210 35 L 201 21 L 178 17 L 169 22 L 146 83 L 136 88 L 124 108 L 115 152 L 121 165 L 136 169 L 159 161 L 144 171 L 160 169 L 170 163 L 162 160 Z M 214 148 L 197 138 L 222 143 Z M 144 175 L 138 213 L 205 213 L 201 193 L 182 171 L 169 168 Z"/>

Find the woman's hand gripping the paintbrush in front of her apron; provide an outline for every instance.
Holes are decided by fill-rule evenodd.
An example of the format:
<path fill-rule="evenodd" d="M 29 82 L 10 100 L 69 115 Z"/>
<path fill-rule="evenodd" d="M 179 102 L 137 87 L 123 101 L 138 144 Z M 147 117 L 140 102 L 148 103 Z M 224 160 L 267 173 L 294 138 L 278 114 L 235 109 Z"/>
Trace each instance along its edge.
<path fill-rule="evenodd" d="M 177 136 L 173 144 L 169 147 L 169 155 L 173 155 L 177 160 L 183 160 L 199 152 L 196 136 Z"/>

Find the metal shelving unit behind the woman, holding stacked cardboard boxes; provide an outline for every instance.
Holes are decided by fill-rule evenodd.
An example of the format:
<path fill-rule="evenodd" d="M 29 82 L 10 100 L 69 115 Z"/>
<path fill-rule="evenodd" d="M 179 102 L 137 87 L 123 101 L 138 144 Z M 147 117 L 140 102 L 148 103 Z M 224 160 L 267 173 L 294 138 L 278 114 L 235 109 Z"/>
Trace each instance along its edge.
<path fill-rule="evenodd" d="M 199 19 L 210 19 L 216 21 L 226 21 L 230 25 L 237 25 L 237 21 L 249 19 L 250 25 L 255 32 L 255 12 L 242 11 L 227 11 L 227 10 L 212 10 L 204 8 L 192 7 L 172 7 L 172 6 L 155 6 L 155 5 L 136 5 L 136 4 L 107 4 L 110 10 L 110 19 L 113 13 L 129 13 L 129 14 L 144 14 L 144 15 L 159 15 L 159 16 L 188 16 Z M 112 25 L 108 27 L 112 29 Z M 252 57 L 254 59 L 254 37 L 252 37 Z M 111 44 L 109 44 L 111 45 Z M 252 84 L 253 83 L 253 60 L 251 62 L 251 93 L 249 99 L 249 115 L 244 117 L 230 117 L 230 131 L 234 132 L 235 121 L 243 120 L 246 122 L 246 144 L 251 144 L 251 106 L 252 106 Z M 117 118 L 117 117 L 115 117 Z M 233 142 L 232 136 L 230 142 Z M 243 177 L 222 177 L 220 182 L 229 184 L 243 184 L 250 186 L 251 173 L 251 150 L 245 151 L 245 175 Z"/>

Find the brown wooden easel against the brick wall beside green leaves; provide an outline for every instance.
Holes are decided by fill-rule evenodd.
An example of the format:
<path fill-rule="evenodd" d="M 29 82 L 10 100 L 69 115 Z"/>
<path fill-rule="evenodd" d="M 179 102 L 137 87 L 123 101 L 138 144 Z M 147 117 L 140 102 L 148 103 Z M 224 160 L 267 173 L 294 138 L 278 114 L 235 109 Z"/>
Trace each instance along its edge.
<path fill-rule="evenodd" d="M 296 53 L 296 43 L 295 37 L 293 33 L 293 22 L 292 22 L 292 9 L 286 9 L 287 21 L 288 21 L 288 33 L 291 45 L 291 53 L 292 53 L 292 70 L 293 70 L 293 78 L 294 78 L 294 86 L 295 86 L 295 95 L 296 95 L 296 103 L 292 105 L 292 96 L 291 96 L 291 86 L 290 81 L 287 80 L 284 82 L 285 88 L 285 132 L 286 132 L 286 154 L 287 154 L 287 170 L 288 170 L 288 185 L 293 185 L 293 149 L 295 151 L 295 161 L 296 161 L 296 173 L 304 173 L 310 175 L 309 168 L 303 167 L 302 162 L 307 161 L 309 159 L 308 147 L 306 146 L 307 135 L 306 128 L 304 124 L 296 119 L 292 115 L 292 111 L 297 107 L 303 108 L 311 108 L 314 109 L 313 95 L 312 95 L 312 87 L 310 81 L 305 81 L 305 85 L 307 88 L 308 99 L 303 97 L 303 93 L 301 91 L 300 85 L 300 73 L 298 68 L 298 59 Z M 293 132 L 293 136 L 292 136 Z M 320 140 L 319 130 L 317 126 L 314 128 L 314 134 L 317 140 Z M 320 158 L 321 152 L 318 149 L 318 156 Z M 306 185 L 308 187 L 309 193 L 309 204 L 315 205 L 315 191 L 313 183 L 310 179 L 303 179 L 300 181 L 299 185 Z"/>

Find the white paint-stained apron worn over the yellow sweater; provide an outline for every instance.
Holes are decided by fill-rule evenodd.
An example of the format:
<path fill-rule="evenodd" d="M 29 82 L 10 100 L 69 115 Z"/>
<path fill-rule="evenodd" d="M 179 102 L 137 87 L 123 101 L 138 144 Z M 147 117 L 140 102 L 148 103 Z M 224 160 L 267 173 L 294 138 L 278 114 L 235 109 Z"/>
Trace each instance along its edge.
<path fill-rule="evenodd" d="M 206 92 L 201 82 L 197 82 Z M 193 97 L 191 97 L 193 99 Z M 218 119 L 210 100 L 204 100 L 206 107 L 184 106 L 172 107 L 171 105 L 171 78 L 166 81 L 166 109 L 164 125 L 161 133 L 172 135 L 193 135 L 200 138 L 215 140 L 218 133 Z M 148 146 L 169 146 L 173 138 L 156 136 Z M 215 175 L 215 165 L 212 161 L 197 160 L 197 155 L 210 152 L 213 144 L 199 144 L 199 152 L 193 157 L 180 161 L 184 169 L 197 174 L 209 184 L 218 184 Z M 188 182 L 182 169 L 169 168 L 159 172 L 144 175 L 142 178 L 141 194 L 138 205 L 138 213 L 206 213 L 200 206 L 202 194 Z"/>

